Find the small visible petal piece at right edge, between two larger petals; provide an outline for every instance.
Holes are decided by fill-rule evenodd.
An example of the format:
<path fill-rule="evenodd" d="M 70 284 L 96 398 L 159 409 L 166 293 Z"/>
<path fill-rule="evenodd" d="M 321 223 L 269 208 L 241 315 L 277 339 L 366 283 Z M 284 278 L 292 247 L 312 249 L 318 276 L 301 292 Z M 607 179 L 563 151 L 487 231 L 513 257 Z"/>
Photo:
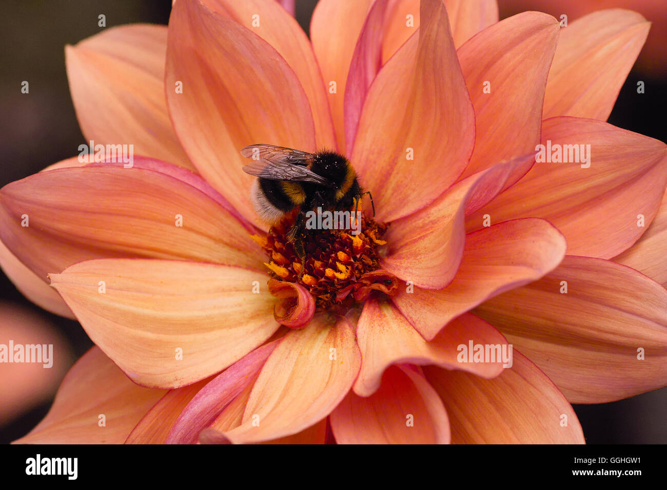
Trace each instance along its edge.
<path fill-rule="evenodd" d="M 632 267 L 667 287 L 667 194 L 662 197 L 658 214 L 646 233 L 632 247 L 614 257 L 614 262 Z"/>

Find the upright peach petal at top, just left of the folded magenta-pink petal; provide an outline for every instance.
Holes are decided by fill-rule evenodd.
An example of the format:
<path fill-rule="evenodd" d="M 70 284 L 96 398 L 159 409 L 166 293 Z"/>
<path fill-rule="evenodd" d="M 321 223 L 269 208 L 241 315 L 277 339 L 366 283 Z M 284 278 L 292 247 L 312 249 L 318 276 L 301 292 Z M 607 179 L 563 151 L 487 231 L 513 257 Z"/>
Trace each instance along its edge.
<path fill-rule="evenodd" d="M 327 89 L 337 146 L 348 154 L 344 123 L 346 83 L 357 40 L 373 3 L 374 0 L 320 0 L 310 21 L 310 39 Z"/>

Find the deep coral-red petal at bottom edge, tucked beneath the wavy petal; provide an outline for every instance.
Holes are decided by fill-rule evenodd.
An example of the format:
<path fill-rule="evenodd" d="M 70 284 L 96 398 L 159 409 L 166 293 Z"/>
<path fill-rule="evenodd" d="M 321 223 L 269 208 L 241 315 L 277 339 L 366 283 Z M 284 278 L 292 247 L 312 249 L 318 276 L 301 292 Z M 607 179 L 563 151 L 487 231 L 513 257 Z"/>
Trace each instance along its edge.
<path fill-rule="evenodd" d="M 339 444 L 448 444 L 442 400 L 421 372 L 392 366 L 370 397 L 352 391 L 331 412 Z"/>

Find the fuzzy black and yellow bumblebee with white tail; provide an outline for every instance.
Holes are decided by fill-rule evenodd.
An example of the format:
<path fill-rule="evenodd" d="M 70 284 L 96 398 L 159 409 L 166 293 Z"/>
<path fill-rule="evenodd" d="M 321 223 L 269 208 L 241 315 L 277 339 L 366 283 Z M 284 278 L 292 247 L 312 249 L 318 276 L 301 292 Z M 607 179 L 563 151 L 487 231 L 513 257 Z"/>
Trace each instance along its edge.
<path fill-rule="evenodd" d="M 358 210 L 364 192 L 357 174 L 346 157 L 335 151 L 316 153 L 274 145 L 249 145 L 241 150 L 243 157 L 252 159 L 243 167 L 245 173 L 257 177 L 251 189 L 251 199 L 257 215 L 269 224 L 277 223 L 286 213 L 299 208 L 287 239 L 303 259 L 303 236 L 308 211 L 317 207 L 333 211 Z"/>

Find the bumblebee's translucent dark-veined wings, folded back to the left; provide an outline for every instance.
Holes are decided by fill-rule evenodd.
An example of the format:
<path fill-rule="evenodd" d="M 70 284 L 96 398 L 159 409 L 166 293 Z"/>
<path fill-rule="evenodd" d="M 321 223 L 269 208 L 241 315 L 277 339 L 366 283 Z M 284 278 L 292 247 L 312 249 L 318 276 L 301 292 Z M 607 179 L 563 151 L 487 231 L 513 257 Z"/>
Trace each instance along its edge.
<path fill-rule="evenodd" d="M 314 155 L 305 151 L 273 145 L 249 145 L 241 150 L 241 155 L 253 158 L 251 163 L 243 167 L 245 173 L 261 177 L 261 179 L 277 181 L 311 182 L 331 187 L 328 179 L 317 175 L 306 167 L 313 161 Z"/>

